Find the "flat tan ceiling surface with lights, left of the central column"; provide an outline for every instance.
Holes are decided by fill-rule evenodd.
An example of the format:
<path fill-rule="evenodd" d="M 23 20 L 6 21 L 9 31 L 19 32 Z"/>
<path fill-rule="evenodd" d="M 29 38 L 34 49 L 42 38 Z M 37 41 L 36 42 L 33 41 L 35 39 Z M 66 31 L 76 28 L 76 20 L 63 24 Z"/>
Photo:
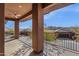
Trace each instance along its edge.
<path fill-rule="evenodd" d="M 5 4 L 5 18 L 6 19 L 18 19 L 22 15 L 32 10 L 32 4 L 20 4 L 20 3 L 6 3 Z"/>

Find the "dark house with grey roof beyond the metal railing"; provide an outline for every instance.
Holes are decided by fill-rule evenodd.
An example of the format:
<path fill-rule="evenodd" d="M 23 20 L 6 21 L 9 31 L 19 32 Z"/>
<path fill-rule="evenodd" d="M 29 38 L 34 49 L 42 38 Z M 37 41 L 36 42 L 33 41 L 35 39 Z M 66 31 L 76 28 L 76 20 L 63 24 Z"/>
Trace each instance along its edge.
<path fill-rule="evenodd" d="M 57 38 L 70 38 L 75 39 L 75 32 L 65 29 L 58 29 L 55 31 Z"/>

